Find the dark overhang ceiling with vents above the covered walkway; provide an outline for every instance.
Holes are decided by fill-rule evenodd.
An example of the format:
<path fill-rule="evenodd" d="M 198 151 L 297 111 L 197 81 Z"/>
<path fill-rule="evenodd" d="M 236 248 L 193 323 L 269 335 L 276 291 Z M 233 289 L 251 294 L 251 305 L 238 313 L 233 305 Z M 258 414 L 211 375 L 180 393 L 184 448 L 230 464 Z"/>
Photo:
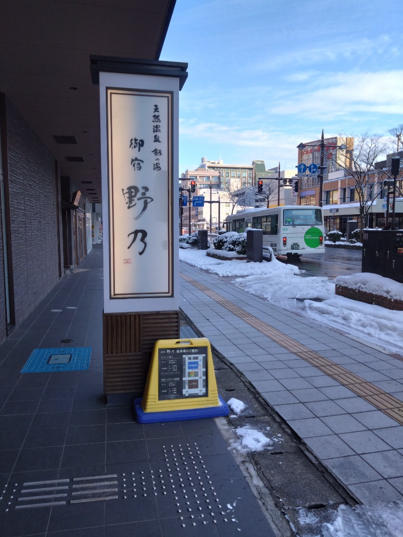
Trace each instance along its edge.
<path fill-rule="evenodd" d="M 61 175 L 91 201 L 101 200 L 101 176 L 99 88 L 91 81 L 90 55 L 158 60 L 175 2 L 0 4 L 0 91 L 59 161 Z"/>

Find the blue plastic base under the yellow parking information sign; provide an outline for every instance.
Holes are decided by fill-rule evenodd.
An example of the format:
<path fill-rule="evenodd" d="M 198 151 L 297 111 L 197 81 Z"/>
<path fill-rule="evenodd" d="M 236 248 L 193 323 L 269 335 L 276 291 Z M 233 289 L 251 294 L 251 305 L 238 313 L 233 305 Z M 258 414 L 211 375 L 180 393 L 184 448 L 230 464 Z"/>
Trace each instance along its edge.
<path fill-rule="evenodd" d="M 228 416 L 229 408 L 227 403 L 218 396 L 220 405 L 218 407 L 191 408 L 188 410 L 166 410 L 161 412 L 145 412 L 141 406 L 142 398 L 134 400 L 134 416 L 138 423 L 161 423 L 161 422 L 181 422 L 185 419 L 217 418 L 218 416 Z"/>

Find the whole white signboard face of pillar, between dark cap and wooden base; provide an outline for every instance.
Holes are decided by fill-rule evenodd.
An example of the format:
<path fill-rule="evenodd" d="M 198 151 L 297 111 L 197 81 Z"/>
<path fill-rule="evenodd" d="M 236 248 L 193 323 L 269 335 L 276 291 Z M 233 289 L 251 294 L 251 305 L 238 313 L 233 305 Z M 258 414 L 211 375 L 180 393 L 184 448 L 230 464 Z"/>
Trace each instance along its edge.
<path fill-rule="evenodd" d="M 150 76 L 120 75 L 131 87 L 108 84 L 117 76 L 100 74 L 103 215 L 109 230 L 107 237 L 104 232 L 104 312 L 178 309 L 178 216 L 172 199 L 178 177 L 177 93 L 155 89 L 149 79 L 156 77 Z"/>

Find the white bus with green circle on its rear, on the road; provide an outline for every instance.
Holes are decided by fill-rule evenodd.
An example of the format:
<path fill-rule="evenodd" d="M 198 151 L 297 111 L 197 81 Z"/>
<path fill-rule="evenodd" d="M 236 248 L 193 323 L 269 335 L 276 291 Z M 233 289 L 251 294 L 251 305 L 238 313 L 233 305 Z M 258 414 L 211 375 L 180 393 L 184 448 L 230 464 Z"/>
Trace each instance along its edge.
<path fill-rule="evenodd" d="M 263 247 L 275 256 L 299 257 L 304 253 L 325 253 L 322 207 L 285 205 L 243 209 L 226 217 L 227 231 L 243 233 L 247 228 L 263 230 Z"/>

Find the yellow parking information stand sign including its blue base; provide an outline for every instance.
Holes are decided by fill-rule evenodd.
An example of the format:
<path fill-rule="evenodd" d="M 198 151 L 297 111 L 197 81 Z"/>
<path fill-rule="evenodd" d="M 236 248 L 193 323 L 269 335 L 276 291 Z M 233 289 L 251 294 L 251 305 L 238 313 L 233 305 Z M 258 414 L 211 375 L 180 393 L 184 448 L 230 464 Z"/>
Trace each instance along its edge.
<path fill-rule="evenodd" d="M 134 401 L 134 413 L 140 423 L 227 416 L 208 339 L 158 340 L 144 395 Z"/>

